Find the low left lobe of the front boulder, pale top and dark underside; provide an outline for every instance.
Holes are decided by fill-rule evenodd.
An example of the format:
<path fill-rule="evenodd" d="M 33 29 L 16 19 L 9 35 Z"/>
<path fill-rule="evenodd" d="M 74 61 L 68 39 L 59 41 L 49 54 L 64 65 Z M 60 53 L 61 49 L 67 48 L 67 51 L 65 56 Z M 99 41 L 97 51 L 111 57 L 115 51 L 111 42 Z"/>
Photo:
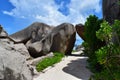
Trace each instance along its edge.
<path fill-rule="evenodd" d="M 40 57 L 50 52 L 51 41 L 49 37 L 44 37 L 40 41 L 32 42 L 29 40 L 26 43 L 27 49 L 32 57 Z"/>

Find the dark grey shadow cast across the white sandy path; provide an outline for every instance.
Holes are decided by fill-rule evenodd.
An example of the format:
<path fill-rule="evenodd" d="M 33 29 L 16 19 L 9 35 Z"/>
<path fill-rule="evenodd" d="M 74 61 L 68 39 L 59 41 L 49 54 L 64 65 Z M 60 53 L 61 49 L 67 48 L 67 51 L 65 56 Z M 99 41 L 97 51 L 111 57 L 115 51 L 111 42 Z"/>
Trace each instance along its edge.
<path fill-rule="evenodd" d="M 86 60 L 87 57 L 81 57 L 78 60 L 72 60 L 62 70 L 81 80 L 89 80 L 91 76 L 91 72 L 86 68 L 87 66 Z"/>

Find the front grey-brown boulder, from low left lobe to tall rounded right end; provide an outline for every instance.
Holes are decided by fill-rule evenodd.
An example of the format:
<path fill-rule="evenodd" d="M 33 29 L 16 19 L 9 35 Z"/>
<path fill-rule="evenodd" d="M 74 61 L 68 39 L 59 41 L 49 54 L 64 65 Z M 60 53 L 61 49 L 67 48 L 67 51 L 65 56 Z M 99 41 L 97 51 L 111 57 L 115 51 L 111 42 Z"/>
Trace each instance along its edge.
<path fill-rule="evenodd" d="M 72 24 L 63 23 L 37 42 L 28 41 L 26 46 L 34 57 L 45 55 L 49 52 L 71 54 L 75 43 L 76 30 Z"/>

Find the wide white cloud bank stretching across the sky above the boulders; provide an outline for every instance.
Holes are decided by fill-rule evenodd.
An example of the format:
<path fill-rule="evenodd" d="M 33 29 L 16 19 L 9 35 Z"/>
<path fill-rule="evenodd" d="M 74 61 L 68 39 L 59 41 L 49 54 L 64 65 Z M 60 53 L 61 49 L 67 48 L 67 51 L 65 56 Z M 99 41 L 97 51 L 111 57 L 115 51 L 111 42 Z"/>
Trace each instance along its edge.
<path fill-rule="evenodd" d="M 101 11 L 100 0 L 71 0 L 67 5 L 70 11 L 67 16 L 58 11 L 62 4 L 57 5 L 54 0 L 10 0 L 10 2 L 15 8 L 4 11 L 4 14 L 51 25 L 63 22 L 84 23 L 88 15 Z"/>

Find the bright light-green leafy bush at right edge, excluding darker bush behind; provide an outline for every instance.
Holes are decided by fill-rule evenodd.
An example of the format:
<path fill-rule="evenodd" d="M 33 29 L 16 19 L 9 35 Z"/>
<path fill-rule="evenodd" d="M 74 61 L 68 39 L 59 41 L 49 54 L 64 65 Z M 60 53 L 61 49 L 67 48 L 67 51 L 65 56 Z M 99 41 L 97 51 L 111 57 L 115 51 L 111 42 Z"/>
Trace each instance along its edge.
<path fill-rule="evenodd" d="M 106 42 L 106 46 L 96 51 L 97 61 L 103 69 L 94 75 L 95 80 L 120 80 L 119 30 L 120 21 L 116 20 L 112 26 L 104 21 L 96 32 L 97 37 Z M 113 35 L 115 33 L 116 35 Z M 112 41 L 114 36 L 117 37 L 117 44 Z"/>

